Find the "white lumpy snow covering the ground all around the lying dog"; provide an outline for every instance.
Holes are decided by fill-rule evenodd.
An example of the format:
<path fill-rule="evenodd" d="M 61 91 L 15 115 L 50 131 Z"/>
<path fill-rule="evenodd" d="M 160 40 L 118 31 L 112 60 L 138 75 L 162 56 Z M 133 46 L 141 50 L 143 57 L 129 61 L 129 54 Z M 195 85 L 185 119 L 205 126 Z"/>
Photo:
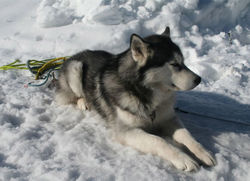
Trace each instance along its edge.
<path fill-rule="evenodd" d="M 178 93 L 178 107 L 236 121 L 179 113 L 218 162 L 184 173 L 113 142 L 98 115 L 58 107 L 46 86 L 25 88 L 33 80 L 28 71 L 0 71 L 1 181 L 250 180 L 249 0 L 1 0 L 0 9 L 0 66 L 83 49 L 118 53 L 132 33 L 168 25 L 186 64 L 203 78 Z"/>

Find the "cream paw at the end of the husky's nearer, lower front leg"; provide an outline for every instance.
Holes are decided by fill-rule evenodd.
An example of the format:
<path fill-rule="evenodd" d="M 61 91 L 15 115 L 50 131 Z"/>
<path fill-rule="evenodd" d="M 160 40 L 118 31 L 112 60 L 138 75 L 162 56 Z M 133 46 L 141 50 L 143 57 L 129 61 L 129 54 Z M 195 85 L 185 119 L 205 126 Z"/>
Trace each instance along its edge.
<path fill-rule="evenodd" d="M 182 171 L 191 172 L 199 169 L 199 164 L 184 153 L 178 153 L 177 156 L 170 161 L 177 169 Z"/>

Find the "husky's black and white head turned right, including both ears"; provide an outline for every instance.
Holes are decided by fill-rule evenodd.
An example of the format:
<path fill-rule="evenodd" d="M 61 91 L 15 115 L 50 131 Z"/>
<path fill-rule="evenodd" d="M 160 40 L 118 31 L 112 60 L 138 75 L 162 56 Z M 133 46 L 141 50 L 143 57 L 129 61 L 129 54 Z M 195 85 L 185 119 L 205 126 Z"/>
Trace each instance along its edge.
<path fill-rule="evenodd" d="M 180 48 L 170 38 L 169 27 L 161 35 L 146 38 L 133 34 L 130 50 L 146 86 L 160 86 L 167 90 L 190 90 L 201 81 L 201 78 L 184 64 Z"/>

